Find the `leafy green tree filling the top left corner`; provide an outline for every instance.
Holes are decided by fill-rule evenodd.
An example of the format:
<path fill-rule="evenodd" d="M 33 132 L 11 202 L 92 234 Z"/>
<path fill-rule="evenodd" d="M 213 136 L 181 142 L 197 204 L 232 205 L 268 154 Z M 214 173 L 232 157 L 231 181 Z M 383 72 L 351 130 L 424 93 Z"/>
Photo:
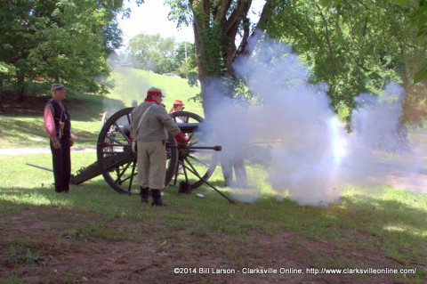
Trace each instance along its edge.
<path fill-rule="evenodd" d="M 0 62 L 4 76 L 25 93 L 39 76 L 74 88 L 106 92 L 97 80 L 109 73 L 108 54 L 120 45 L 116 15 L 122 1 L 50 0 L 0 3 Z"/>

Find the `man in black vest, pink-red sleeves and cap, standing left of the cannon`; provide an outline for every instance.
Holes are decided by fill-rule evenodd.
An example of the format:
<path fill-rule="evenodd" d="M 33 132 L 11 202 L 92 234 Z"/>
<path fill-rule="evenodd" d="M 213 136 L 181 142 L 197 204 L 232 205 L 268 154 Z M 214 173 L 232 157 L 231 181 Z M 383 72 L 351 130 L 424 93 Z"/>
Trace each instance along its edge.
<path fill-rule="evenodd" d="M 68 192 L 71 177 L 70 147 L 74 141 L 71 137 L 71 120 L 64 103 L 67 92 L 64 85 L 54 83 L 51 93 L 53 98 L 44 107 L 44 128 L 51 141 L 55 191 Z"/>

